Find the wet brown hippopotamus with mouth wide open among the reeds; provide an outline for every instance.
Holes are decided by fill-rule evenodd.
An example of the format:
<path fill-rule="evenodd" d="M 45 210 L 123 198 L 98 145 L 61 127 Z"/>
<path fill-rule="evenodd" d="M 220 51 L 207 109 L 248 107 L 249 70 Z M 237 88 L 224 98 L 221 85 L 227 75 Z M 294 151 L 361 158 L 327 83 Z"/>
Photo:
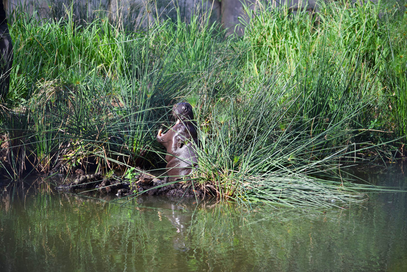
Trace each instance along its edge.
<path fill-rule="evenodd" d="M 166 154 L 166 174 L 169 180 L 176 180 L 181 176 L 191 174 L 193 167 L 197 167 L 196 147 L 198 135 L 194 112 L 189 103 L 179 103 L 172 108 L 172 115 L 177 122 L 166 133 L 158 131 L 157 141 L 164 145 Z"/>

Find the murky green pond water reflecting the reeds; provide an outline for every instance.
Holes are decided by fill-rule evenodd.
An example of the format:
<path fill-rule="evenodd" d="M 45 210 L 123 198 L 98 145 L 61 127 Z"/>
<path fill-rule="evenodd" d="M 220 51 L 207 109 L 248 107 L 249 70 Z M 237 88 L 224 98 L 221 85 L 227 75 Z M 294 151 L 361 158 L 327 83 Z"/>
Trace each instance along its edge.
<path fill-rule="evenodd" d="M 407 186 L 406 166 L 363 171 Z M 0 272 L 407 271 L 406 192 L 328 210 L 164 197 L 121 207 L 16 184 L 1 187 Z"/>

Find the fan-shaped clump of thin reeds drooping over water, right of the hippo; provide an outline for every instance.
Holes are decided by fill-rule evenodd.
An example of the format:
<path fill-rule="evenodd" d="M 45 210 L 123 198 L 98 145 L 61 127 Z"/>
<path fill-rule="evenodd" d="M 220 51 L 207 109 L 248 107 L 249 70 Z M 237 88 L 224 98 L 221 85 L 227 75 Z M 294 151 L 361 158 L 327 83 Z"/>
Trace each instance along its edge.
<path fill-rule="evenodd" d="M 324 73 L 324 69 L 310 71 L 315 78 Z M 228 75 L 219 77 L 221 82 L 236 80 Z M 343 101 L 337 101 L 346 105 L 339 108 L 347 112 L 341 118 L 322 115 L 329 111 L 328 104 L 320 105 L 321 115 L 304 116 L 303 108 L 312 112 L 314 107 L 308 107 L 309 97 L 301 97 L 301 83 L 308 79 L 303 80 L 293 84 L 282 76 L 264 75 L 255 90 L 248 82 L 239 92 L 221 90 L 221 97 L 208 99 L 211 94 L 201 94 L 196 107 L 202 145 L 197 179 L 211 181 L 223 196 L 284 206 L 307 201 L 331 206 L 343 197 L 361 197 L 346 191 L 349 185 L 346 190 L 344 187 L 349 194 L 342 191 L 341 183 L 334 181 L 339 176 L 330 170 L 339 166 L 340 159 L 347 160 L 348 141 L 358 134 L 349 126 L 365 105 L 344 96 Z M 350 85 L 343 84 L 345 89 Z M 331 181 L 318 178 L 328 173 Z"/>

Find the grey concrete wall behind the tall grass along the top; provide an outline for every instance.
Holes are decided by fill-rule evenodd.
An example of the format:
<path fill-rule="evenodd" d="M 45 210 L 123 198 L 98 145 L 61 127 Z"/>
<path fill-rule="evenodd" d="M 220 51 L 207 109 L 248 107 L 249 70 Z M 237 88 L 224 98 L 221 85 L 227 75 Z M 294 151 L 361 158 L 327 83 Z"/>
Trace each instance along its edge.
<path fill-rule="evenodd" d="M 178 6 L 183 20 L 188 21 L 191 13 L 196 10 L 201 15 L 211 14 L 211 21 L 221 22 L 229 32 L 235 29 L 242 33 L 239 17 L 247 20 L 242 8 L 242 3 L 250 5 L 252 9 L 259 3 L 269 0 L 3 0 L 6 12 L 12 13 L 17 6 L 24 6 L 24 11 L 32 13 L 36 10 L 39 18 L 64 16 L 67 8 L 73 9 L 77 19 L 91 20 L 98 13 L 104 12 L 112 21 L 120 22 L 123 26 L 132 28 L 145 27 L 157 15 L 161 18 L 176 18 L 174 6 Z M 289 5 L 293 10 L 298 8 L 313 8 L 316 0 L 271 0 L 278 7 Z M 157 3 L 157 8 L 152 6 Z M 72 4 L 72 5 L 71 5 Z M 149 12 L 146 12 L 149 11 Z"/>

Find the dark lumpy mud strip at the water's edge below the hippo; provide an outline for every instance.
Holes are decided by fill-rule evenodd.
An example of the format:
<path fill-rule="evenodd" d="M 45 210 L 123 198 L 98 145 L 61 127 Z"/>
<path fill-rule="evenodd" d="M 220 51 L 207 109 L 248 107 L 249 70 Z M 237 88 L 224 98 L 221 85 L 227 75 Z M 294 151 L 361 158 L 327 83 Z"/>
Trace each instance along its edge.
<path fill-rule="evenodd" d="M 214 195 L 210 188 L 197 182 L 191 180 L 170 182 L 167 178 L 158 178 L 150 173 L 137 175 L 133 180 L 116 175 L 106 177 L 100 173 L 91 175 L 78 173 L 73 182 L 56 188 L 65 192 L 98 192 L 122 197 L 141 194 L 203 198 Z"/>

